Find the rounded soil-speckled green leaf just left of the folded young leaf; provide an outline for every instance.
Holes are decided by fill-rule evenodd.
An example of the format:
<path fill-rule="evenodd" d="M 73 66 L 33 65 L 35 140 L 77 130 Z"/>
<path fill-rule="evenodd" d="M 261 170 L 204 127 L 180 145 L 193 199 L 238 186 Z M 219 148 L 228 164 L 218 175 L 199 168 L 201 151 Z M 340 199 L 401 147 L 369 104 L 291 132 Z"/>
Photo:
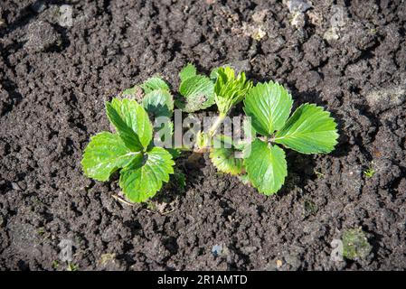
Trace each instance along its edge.
<path fill-rule="evenodd" d="M 179 92 L 184 97 L 176 106 L 185 112 L 211 107 L 214 104 L 214 84 L 204 75 L 194 75 L 182 80 Z"/>

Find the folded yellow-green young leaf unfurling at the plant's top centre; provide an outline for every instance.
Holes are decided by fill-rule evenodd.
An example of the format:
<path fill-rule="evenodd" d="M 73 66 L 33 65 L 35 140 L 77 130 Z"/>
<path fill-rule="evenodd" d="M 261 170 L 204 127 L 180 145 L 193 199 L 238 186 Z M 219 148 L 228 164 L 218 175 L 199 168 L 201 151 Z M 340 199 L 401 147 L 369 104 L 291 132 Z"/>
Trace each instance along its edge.
<path fill-rule="evenodd" d="M 252 83 L 246 79 L 244 72 L 235 77 L 235 72 L 230 67 L 221 67 L 216 73 L 214 99 L 220 113 L 226 115 L 231 107 L 241 102 Z"/>

